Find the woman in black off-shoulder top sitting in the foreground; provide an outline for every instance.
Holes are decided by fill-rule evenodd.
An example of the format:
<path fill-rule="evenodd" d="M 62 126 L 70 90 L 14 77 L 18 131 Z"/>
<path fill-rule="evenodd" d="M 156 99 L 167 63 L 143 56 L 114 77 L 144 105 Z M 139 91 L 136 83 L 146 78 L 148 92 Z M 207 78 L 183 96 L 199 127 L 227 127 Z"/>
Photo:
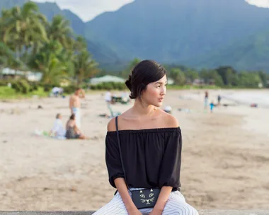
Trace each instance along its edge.
<path fill-rule="evenodd" d="M 166 95 L 166 70 L 144 60 L 125 83 L 135 104 L 108 122 L 105 138 L 109 182 L 117 192 L 94 214 L 198 215 L 179 192 L 181 129 L 175 117 L 159 109 Z M 139 197 L 147 204 L 154 202 L 150 199 L 153 194 L 145 197 L 144 191 L 156 188 L 159 197 L 154 207 L 138 209 L 134 191 L 139 190 Z"/>

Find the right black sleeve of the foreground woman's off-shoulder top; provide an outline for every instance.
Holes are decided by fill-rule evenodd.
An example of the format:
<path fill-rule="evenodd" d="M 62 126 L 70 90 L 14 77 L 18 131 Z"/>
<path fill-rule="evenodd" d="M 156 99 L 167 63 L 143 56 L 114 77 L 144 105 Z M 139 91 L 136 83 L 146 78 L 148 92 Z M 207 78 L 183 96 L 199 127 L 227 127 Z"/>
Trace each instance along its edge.
<path fill-rule="evenodd" d="M 167 134 L 164 157 L 159 169 L 159 187 L 180 187 L 181 174 L 181 129 Z"/>

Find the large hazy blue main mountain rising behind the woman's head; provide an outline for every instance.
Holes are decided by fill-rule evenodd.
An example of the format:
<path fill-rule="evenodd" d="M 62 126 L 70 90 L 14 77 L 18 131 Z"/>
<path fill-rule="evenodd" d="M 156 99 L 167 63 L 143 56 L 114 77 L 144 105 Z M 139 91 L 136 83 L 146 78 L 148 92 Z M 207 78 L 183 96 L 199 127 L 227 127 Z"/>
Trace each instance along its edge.
<path fill-rule="evenodd" d="M 206 67 L 212 61 L 214 65 L 233 62 L 232 66 L 238 69 L 260 68 L 259 65 L 265 64 L 261 55 L 253 56 L 254 64 L 246 61 L 246 57 L 239 61 L 222 57 L 240 53 L 231 44 L 251 36 L 249 44 L 253 44 L 258 37 L 256 33 L 265 30 L 268 21 L 268 8 L 258 8 L 244 0 L 136 0 L 86 23 L 85 33 L 88 39 L 105 41 L 114 47 L 120 59 L 125 60 L 139 57 L 163 63 L 197 61 Z M 246 45 L 246 48 L 254 47 Z M 203 60 L 217 50 L 225 50 L 225 54 Z M 259 59 L 261 63 L 256 64 Z"/>

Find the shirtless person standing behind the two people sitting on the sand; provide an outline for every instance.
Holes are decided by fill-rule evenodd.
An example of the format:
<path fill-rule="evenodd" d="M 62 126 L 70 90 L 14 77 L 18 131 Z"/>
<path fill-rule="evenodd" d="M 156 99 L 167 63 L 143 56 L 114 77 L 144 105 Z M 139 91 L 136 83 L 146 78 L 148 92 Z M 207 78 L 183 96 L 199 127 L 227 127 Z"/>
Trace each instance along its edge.
<path fill-rule="evenodd" d="M 73 95 L 70 96 L 69 99 L 69 108 L 71 110 L 71 114 L 74 114 L 76 117 L 76 126 L 78 128 L 81 127 L 81 102 L 80 98 L 85 98 L 85 92 L 81 88 L 76 88 L 76 91 Z"/>

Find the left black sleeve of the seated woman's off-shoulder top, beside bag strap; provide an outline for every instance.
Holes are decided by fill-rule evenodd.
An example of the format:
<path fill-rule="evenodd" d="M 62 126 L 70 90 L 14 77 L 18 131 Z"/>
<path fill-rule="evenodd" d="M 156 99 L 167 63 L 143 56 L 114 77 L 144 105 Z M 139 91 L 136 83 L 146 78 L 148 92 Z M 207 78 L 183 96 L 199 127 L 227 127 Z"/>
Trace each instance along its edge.
<path fill-rule="evenodd" d="M 105 137 L 105 163 L 108 168 L 108 177 L 110 185 L 117 188 L 115 186 L 114 180 L 116 178 L 124 178 L 124 174 L 120 161 L 118 142 L 115 141 L 115 138 L 108 134 Z"/>

